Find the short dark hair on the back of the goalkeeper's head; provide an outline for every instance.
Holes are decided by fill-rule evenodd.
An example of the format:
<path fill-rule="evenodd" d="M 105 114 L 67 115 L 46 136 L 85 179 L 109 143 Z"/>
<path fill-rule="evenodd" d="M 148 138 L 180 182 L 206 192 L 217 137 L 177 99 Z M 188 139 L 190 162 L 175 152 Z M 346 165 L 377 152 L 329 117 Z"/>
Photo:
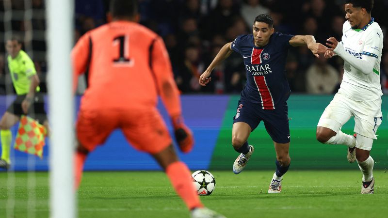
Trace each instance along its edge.
<path fill-rule="evenodd" d="M 113 17 L 133 17 L 137 14 L 137 0 L 111 0 L 110 12 Z"/>

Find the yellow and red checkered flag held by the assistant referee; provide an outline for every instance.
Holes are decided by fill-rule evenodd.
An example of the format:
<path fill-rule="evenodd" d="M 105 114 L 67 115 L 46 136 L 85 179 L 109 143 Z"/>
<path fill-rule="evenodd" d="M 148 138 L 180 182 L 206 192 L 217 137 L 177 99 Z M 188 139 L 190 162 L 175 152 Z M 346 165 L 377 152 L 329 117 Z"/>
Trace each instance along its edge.
<path fill-rule="evenodd" d="M 22 115 L 14 148 L 42 159 L 45 146 L 45 127 L 31 117 Z"/>

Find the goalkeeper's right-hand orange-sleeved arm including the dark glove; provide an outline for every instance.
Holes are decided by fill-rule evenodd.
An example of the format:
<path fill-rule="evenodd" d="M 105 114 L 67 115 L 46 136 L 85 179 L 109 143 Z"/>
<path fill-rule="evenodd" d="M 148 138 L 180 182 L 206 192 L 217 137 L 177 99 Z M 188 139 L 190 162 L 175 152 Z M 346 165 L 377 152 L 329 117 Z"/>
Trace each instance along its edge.
<path fill-rule="evenodd" d="M 193 133 L 187 127 L 181 116 L 180 98 L 178 87 L 175 83 L 170 59 L 161 38 L 157 38 L 151 51 L 151 68 L 155 73 L 158 90 L 174 127 L 174 135 L 179 149 L 190 152 L 194 146 Z"/>

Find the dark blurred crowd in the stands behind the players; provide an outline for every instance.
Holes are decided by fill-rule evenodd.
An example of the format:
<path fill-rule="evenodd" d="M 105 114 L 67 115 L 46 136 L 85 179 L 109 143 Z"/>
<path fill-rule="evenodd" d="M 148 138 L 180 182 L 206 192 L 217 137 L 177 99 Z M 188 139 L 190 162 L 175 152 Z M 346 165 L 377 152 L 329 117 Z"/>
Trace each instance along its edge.
<path fill-rule="evenodd" d="M 25 0 L 11 0 L 15 11 L 24 10 Z M 15 3 L 17 2 L 17 3 Z M 4 12 L 0 0 L 0 12 Z M 15 3 L 15 4 L 14 4 Z M 245 85 L 242 57 L 233 52 L 212 73 L 209 85 L 202 87 L 198 78 L 218 51 L 240 34 L 251 34 L 255 17 L 269 14 L 275 31 L 293 35 L 314 35 L 324 45 L 330 36 L 340 40 L 345 21 L 344 0 L 139 0 L 140 23 L 164 39 L 181 93 L 240 93 Z M 32 0 L 32 32 L 44 31 L 43 0 Z M 75 41 L 86 31 L 107 22 L 109 0 L 75 0 Z M 385 34 L 381 59 L 381 84 L 388 93 L 388 19 L 384 13 L 387 0 L 375 0 L 372 17 Z M 43 13 L 44 15 L 44 13 Z M 23 32 L 25 20 L 12 20 L 13 31 Z M 2 26 L 1 26 L 2 25 Z M 4 25 L 0 24 L 0 31 Z M 39 52 L 46 51 L 45 39 L 32 37 L 32 59 L 46 90 L 46 61 Z M 0 94 L 5 93 L 6 54 L 0 49 Z M 294 93 L 330 94 L 337 92 L 343 75 L 339 57 L 314 57 L 307 47 L 291 48 L 286 74 Z"/>

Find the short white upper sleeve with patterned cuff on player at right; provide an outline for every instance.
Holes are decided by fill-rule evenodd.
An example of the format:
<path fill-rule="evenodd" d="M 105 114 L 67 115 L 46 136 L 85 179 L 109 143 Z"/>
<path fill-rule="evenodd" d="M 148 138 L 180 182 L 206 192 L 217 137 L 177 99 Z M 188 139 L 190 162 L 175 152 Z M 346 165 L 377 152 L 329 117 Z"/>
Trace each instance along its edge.
<path fill-rule="evenodd" d="M 362 55 L 378 58 L 383 50 L 383 32 L 380 29 L 373 29 L 365 39 L 365 46 Z"/>

